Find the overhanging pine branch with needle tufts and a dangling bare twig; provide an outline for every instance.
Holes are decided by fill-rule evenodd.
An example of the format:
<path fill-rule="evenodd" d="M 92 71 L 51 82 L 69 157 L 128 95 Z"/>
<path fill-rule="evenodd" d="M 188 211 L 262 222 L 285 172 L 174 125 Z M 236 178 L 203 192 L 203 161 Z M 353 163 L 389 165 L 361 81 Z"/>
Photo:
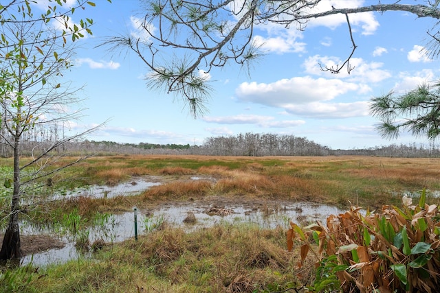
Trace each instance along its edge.
<path fill-rule="evenodd" d="M 440 19 L 436 3 L 401 4 L 400 1 L 377 0 L 376 5 L 358 8 L 331 8 L 317 12 L 321 0 L 143 0 L 142 24 L 144 36 L 117 36 L 104 44 L 112 49 L 128 48 L 150 70 L 148 86 L 183 97 L 192 115 L 203 114 L 203 104 L 209 97 L 210 86 L 203 78 L 214 67 L 236 63 L 250 70 L 252 61 L 263 55 L 254 42 L 258 25 L 275 23 L 285 29 L 305 30 L 307 21 L 323 16 L 342 14 L 347 20 L 347 36 L 351 53 L 340 65 L 322 70 L 339 73 L 353 70 L 350 59 L 358 47 L 351 31 L 349 16 L 361 12 L 404 11 L 418 17 Z M 368 3 L 371 3 L 369 1 Z M 433 38 L 436 34 L 432 34 Z"/>

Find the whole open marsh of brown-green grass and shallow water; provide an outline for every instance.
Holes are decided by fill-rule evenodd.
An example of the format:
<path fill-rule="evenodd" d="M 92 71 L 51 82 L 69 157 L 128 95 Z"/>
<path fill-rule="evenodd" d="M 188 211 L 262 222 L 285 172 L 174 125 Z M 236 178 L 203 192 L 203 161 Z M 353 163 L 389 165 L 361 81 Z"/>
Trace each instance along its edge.
<path fill-rule="evenodd" d="M 28 261 L 8 263 L 0 286 L 7 292 L 300 290 L 313 280 L 314 264 L 298 271 L 298 255 L 287 252 L 285 233 L 290 220 L 314 219 L 292 219 L 286 211 L 322 205 L 336 209 L 331 211 L 351 205 L 380 209 L 400 205 L 404 195 L 417 198 L 423 188 L 427 201 L 438 204 L 439 163 L 366 156 L 97 156 L 23 194 L 21 242 Z M 10 176 L 12 161 L 1 159 L 0 165 L 2 175 Z M 112 189 L 121 185 L 134 191 Z M 1 189 L 3 230 L 9 192 Z M 142 233 L 137 240 L 133 233 L 118 239 L 109 225 L 133 207 Z M 190 207 L 188 217 L 177 221 L 185 225 L 161 217 L 160 211 L 177 214 L 176 207 Z M 197 226 L 209 212 L 205 218 L 217 220 Z M 246 220 L 257 212 L 258 218 L 276 215 L 278 222 Z M 33 254 L 61 250 L 66 242 L 74 242 L 74 258 L 32 263 Z"/>

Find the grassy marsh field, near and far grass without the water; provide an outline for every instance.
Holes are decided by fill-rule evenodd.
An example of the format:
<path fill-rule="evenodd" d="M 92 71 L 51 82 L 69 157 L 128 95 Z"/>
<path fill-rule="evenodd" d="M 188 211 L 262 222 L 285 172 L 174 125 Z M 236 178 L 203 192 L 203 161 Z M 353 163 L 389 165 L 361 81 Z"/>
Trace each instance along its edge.
<path fill-rule="evenodd" d="M 35 204 L 28 218 L 59 223 L 73 211 L 87 221 L 97 213 L 129 211 L 163 202 L 209 197 L 320 202 L 348 209 L 401 204 L 404 192 L 428 190 L 438 204 L 440 159 L 363 156 L 221 157 L 100 156 L 52 178 L 52 189 L 115 185 L 133 176 L 157 176 L 162 185 L 135 196 L 77 198 Z M 9 159 L 0 160 L 8 172 Z M 199 176 L 206 180 L 188 180 Z M 5 194 L 7 191 L 2 191 Z M 3 196 L 6 198 L 7 196 Z M 1 218 L 8 213 L 2 200 Z M 103 244 L 93 259 L 47 268 L 14 268 L 0 275 L 3 292 L 277 292 L 313 280 L 313 263 L 298 271 L 297 253 L 287 253 L 282 228 L 250 224 L 184 233 L 166 223 L 135 242 Z M 1 289 L 0 289 L 1 290 Z"/>

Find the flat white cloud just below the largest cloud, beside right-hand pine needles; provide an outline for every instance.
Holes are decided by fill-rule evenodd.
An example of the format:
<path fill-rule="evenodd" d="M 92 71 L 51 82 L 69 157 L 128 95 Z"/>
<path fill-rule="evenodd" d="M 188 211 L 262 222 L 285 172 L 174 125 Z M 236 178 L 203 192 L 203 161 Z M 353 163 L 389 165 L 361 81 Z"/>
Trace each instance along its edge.
<path fill-rule="evenodd" d="M 308 104 L 289 105 L 285 107 L 287 113 L 312 118 L 340 119 L 362 117 L 369 115 L 368 102 L 353 103 L 322 103 L 311 102 Z"/>

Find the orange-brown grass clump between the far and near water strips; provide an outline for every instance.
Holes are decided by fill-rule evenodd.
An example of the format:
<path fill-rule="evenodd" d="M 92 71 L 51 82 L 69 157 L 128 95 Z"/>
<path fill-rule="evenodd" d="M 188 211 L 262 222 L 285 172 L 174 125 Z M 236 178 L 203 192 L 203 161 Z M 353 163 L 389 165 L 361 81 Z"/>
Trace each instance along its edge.
<path fill-rule="evenodd" d="M 175 181 L 163 185 L 153 186 L 142 195 L 143 199 L 159 199 L 172 197 L 188 198 L 206 196 L 210 192 L 211 183 L 207 180 Z"/>

